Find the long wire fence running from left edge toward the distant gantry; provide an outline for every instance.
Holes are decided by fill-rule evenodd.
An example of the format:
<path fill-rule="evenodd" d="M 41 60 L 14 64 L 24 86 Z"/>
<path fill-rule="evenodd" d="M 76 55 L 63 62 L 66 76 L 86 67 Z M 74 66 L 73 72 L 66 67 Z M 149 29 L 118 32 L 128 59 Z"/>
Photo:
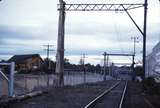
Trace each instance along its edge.
<path fill-rule="evenodd" d="M 126 70 L 127 69 L 127 70 Z M 83 83 L 103 81 L 104 77 L 106 80 L 114 80 L 119 78 L 131 79 L 129 74 L 124 74 L 124 71 L 130 73 L 130 68 L 119 68 L 119 67 L 110 67 L 108 68 L 106 76 L 104 76 L 103 69 L 99 71 L 81 71 L 81 70 L 70 70 L 66 69 L 64 71 L 64 85 L 77 85 Z M 121 73 L 121 71 L 123 73 Z M 40 72 L 38 72 L 40 73 Z M 4 78 L 4 75 L 0 74 L 0 97 L 10 96 L 9 84 L 11 75 L 5 75 L 7 78 Z M 6 80 L 8 79 L 8 80 Z M 13 76 L 13 92 L 12 96 L 25 95 L 34 91 L 43 91 L 49 88 L 54 88 L 58 84 L 58 75 L 57 74 L 14 74 Z"/>

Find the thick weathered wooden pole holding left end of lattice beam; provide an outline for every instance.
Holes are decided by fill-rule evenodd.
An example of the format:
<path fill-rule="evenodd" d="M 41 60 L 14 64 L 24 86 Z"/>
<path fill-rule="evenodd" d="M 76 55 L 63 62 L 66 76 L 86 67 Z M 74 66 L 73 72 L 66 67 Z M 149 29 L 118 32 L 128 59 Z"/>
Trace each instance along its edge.
<path fill-rule="evenodd" d="M 58 25 L 58 42 L 56 55 L 56 73 L 58 74 L 58 86 L 64 85 L 64 32 L 65 32 L 65 2 L 59 0 L 59 25 Z"/>

